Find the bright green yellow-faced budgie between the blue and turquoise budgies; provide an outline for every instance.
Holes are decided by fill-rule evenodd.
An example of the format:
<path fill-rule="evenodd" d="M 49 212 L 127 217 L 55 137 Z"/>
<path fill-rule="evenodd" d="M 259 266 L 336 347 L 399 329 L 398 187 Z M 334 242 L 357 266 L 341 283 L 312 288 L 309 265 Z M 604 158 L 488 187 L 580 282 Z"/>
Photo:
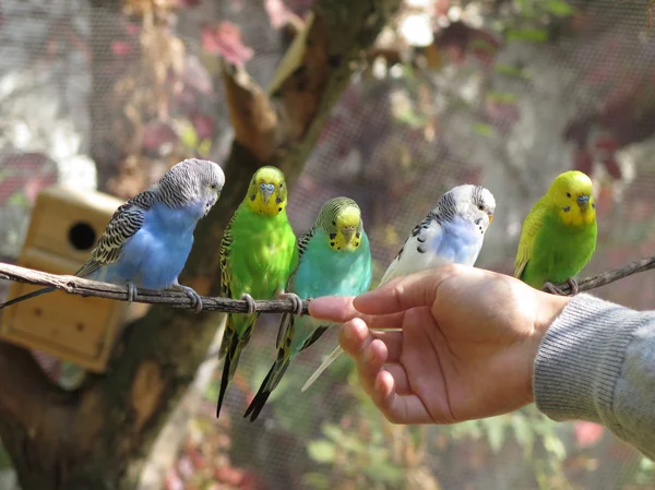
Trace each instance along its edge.
<path fill-rule="evenodd" d="M 259 316 L 252 296 L 258 299 L 288 296 L 301 311 L 300 299 L 296 295 L 286 295 L 284 290 L 298 262 L 296 235 L 289 225 L 286 205 L 284 174 L 275 167 L 261 167 L 252 176 L 248 192 L 223 235 L 223 296 L 247 300 L 249 312 L 227 316 L 218 355 L 219 358 L 225 357 L 225 364 L 216 417 L 221 415 L 225 391 Z"/>

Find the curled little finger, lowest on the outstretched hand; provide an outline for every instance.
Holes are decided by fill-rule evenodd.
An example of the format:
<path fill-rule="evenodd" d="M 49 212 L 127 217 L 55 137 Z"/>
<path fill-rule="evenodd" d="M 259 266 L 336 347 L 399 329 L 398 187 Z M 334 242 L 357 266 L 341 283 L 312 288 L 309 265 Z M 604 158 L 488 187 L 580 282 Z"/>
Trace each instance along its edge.
<path fill-rule="evenodd" d="M 428 410 L 416 395 L 401 395 L 394 377 L 380 371 L 370 394 L 376 406 L 392 423 L 432 423 Z"/>

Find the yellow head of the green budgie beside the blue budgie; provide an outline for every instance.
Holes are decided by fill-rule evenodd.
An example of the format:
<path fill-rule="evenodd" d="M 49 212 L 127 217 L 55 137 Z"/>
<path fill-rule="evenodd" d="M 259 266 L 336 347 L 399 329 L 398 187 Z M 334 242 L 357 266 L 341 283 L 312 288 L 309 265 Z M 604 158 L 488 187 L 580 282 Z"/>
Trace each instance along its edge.
<path fill-rule="evenodd" d="M 252 176 L 246 196 L 250 208 L 258 214 L 275 216 L 287 205 L 284 174 L 276 167 L 262 167 Z"/>

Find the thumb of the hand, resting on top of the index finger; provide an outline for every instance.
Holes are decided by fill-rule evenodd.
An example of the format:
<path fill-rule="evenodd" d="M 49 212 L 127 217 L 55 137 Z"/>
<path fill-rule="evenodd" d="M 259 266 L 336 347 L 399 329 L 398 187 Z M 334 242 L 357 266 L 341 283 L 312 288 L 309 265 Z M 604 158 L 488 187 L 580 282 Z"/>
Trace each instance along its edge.
<path fill-rule="evenodd" d="M 397 277 L 356 297 L 352 301 L 353 308 L 365 314 L 382 315 L 431 306 L 441 283 L 457 274 L 463 267 L 465 266 L 450 264 L 406 277 Z"/>

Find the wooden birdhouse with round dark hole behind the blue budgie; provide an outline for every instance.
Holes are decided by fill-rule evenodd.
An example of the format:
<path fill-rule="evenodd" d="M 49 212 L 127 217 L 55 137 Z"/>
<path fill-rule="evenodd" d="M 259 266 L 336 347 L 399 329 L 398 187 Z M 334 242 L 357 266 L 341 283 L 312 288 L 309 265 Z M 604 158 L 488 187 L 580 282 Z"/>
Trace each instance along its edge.
<path fill-rule="evenodd" d="M 63 186 L 44 190 L 36 199 L 17 264 L 74 274 L 121 204 L 100 192 Z M 8 299 L 40 287 L 13 283 Z M 103 372 L 121 325 L 146 309 L 146 304 L 55 291 L 2 310 L 0 338 Z"/>

